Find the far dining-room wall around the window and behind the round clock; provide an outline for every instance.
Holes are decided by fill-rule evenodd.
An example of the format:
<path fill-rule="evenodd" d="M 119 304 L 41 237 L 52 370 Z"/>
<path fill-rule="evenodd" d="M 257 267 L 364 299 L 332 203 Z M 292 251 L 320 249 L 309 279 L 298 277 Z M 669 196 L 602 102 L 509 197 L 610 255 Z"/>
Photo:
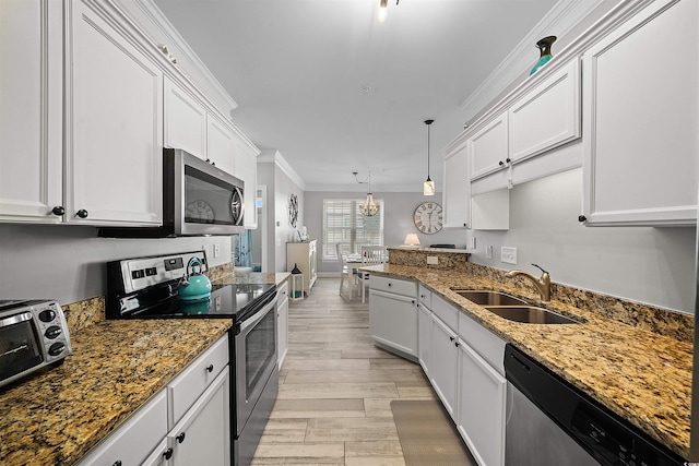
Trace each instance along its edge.
<path fill-rule="evenodd" d="M 318 249 L 322 250 L 323 234 L 323 200 L 324 199 L 358 199 L 364 200 L 366 194 L 360 192 L 328 192 L 328 191 L 307 191 L 305 193 L 305 219 L 308 235 L 318 239 Z M 383 201 L 383 243 L 388 247 L 398 247 L 403 244 L 405 235 L 408 232 L 417 234 L 422 246 L 435 243 L 451 243 L 457 248 L 466 247 L 466 231 L 459 230 L 441 230 L 435 235 L 422 234 L 413 224 L 413 214 L 415 208 L 425 201 L 435 201 L 441 203 L 441 193 L 434 196 L 425 196 L 423 193 L 416 192 L 375 192 L 375 200 Z M 336 273 L 336 261 L 323 262 L 321 255 L 318 256 L 319 273 Z"/>

